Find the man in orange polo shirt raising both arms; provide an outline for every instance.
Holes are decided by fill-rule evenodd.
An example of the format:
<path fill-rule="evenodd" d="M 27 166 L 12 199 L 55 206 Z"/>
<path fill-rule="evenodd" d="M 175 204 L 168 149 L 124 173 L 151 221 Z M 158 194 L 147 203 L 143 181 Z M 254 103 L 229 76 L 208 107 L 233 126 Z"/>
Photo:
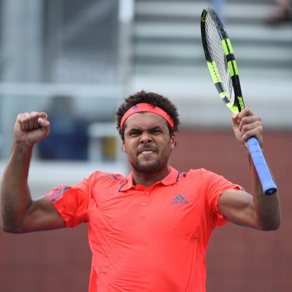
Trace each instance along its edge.
<path fill-rule="evenodd" d="M 138 92 L 116 112 L 131 174 L 96 171 L 32 200 L 27 185 L 33 145 L 49 134 L 45 113 L 19 114 L 1 190 L 1 223 L 13 233 L 88 223 L 93 253 L 90 291 L 205 291 L 205 253 L 215 226 L 227 221 L 258 230 L 280 224 L 278 194 L 265 196 L 246 140 L 263 144 L 249 109 L 232 116 L 248 156 L 253 195 L 204 169 L 169 166 L 179 117 L 165 97 Z"/>

